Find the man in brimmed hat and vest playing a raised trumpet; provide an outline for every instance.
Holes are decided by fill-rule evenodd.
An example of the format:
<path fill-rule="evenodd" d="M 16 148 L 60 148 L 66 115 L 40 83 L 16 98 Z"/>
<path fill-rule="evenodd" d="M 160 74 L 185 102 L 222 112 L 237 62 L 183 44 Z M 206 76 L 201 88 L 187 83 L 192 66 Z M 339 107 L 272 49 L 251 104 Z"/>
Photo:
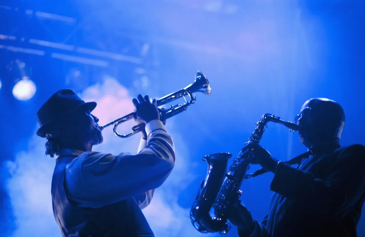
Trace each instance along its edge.
<path fill-rule="evenodd" d="M 135 121 L 146 124 L 137 154 L 92 151 L 103 141 L 91 114 L 96 102 L 72 90 L 59 90 L 38 110 L 37 135 L 56 158 L 51 195 L 62 236 L 154 236 L 141 209 L 172 171 L 174 144 L 155 100 L 138 95 L 133 104 Z"/>

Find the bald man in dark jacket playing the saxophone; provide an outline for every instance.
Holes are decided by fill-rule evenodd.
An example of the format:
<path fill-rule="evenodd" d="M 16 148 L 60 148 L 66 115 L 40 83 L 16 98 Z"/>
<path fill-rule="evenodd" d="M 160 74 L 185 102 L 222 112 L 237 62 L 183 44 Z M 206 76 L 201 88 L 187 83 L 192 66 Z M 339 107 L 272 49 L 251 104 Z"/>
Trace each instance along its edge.
<path fill-rule="evenodd" d="M 306 101 L 295 122 L 312 155 L 293 168 L 264 147 L 246 144 L 243 150 L 254 155 L 251 163 L 274 173 L 274 194 L 261 222 L 239 201 L 228 219 L 240 237 L 356 237 L 365 199 L 365 147 L 340 145 L 345 113 L 333 100 Z"/>

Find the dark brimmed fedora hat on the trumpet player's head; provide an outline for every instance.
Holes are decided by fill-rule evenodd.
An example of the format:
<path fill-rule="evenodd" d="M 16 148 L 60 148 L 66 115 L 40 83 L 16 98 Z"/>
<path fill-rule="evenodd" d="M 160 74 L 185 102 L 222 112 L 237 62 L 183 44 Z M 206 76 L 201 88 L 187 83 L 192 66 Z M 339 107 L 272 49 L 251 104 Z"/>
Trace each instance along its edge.
<path fill-rule="evenodd" d="M 62 116 L 77 110 L 95 109 L 96 102 L 81 100 L 71 89 L 63 89 L 54 93 L 38 110 L 37 120 L 41 128 L 35 132 L 40 137 L 45 137 L 49 127 Z"/>

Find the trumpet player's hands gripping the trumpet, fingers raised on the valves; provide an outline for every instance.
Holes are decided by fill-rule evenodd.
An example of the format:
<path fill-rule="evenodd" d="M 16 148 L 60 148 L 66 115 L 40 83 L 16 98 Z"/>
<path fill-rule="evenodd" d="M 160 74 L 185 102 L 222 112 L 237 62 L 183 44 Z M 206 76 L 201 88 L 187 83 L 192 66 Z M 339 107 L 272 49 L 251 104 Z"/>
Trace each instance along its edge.
<path fill-rule="evenodd" d="M 141 94 L 138 95 L 137 99 L 134 98 L 132 100 L 134 104 L 134 108 L 136 110 L 134 114 L 134 121 L 139 125 L 146 125 L 149 121 L 154 119 L 161 119 L 162 123 L 166 124 L 166 119 L 160 118 L 160 110 L 157 108 L 156 100 L 153 99 L 152 103 L 150 102 L 149 96 L 142 97 Z M 141 136 L 143 139 L 147 140 L 146 130 L 143 129 L 141 131 Z"/>

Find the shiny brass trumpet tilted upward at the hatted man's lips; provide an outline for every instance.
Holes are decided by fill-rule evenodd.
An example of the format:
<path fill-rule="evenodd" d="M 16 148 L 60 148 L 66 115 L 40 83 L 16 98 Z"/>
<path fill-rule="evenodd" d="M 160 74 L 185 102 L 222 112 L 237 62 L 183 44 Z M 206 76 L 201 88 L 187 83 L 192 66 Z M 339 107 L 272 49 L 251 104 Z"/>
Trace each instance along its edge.
<path fill-rule="evenodd" d="M 159 107 L 159 106 L 165 105 L 171 101 L 177 100 L 178 98 L 181 98 L 181 97 L 183 97 L 185 100 L 184 104 L 171 105 L 167 109 L 159 108 L 160 117 L 162 119 L 168 119 L 172 116 L 175 116 L 176 114 L 179 114 L 179 113 L 187 110 L 188 106 L 194 104 L 196 101 L 195 94 L 193 94 L 195 92 L 202 92 L 205 96 L 210 96 L 210 94 L 211 94 L 211 87 L 208 82 L 208 79 L 200 71 L 197 71 L 197 73 L 195 75 L 195 81 L 193 83 L 191 83 L 190 85 L 186 86 L 185 88 L 183 88 L 181 90 L 170 93 L 167 96 L 164 96 L 156 101 L 157 107 Z M 187 99 L 187 96 L 189 96 L 189 98 L 188 98 L 189 100 Z M 132 112 L 130 114 L 127 114 L 126 116 L 120 117 L 119 119 L 113 120 L 104 126 L 100 126 L 99 128 L 100 128 L 100 130 L 103 130 L 106 127 L 114 125 L 113 132 L 116 136 L 122 137 L 122 138 L 130 137 L 138 132 L 141 132 L 145 128 L 145 125 L 139 124 L 139 125 L 133 126 L 132 132 L 128 133 L 126 135 L 122 135 L 122 134 L 118 133 L 118 131 L 116 129 L 120 124 L 122 124 L 128 120 L 134 119 L 134 117 L 135 117 L 135 112 Z"/>

